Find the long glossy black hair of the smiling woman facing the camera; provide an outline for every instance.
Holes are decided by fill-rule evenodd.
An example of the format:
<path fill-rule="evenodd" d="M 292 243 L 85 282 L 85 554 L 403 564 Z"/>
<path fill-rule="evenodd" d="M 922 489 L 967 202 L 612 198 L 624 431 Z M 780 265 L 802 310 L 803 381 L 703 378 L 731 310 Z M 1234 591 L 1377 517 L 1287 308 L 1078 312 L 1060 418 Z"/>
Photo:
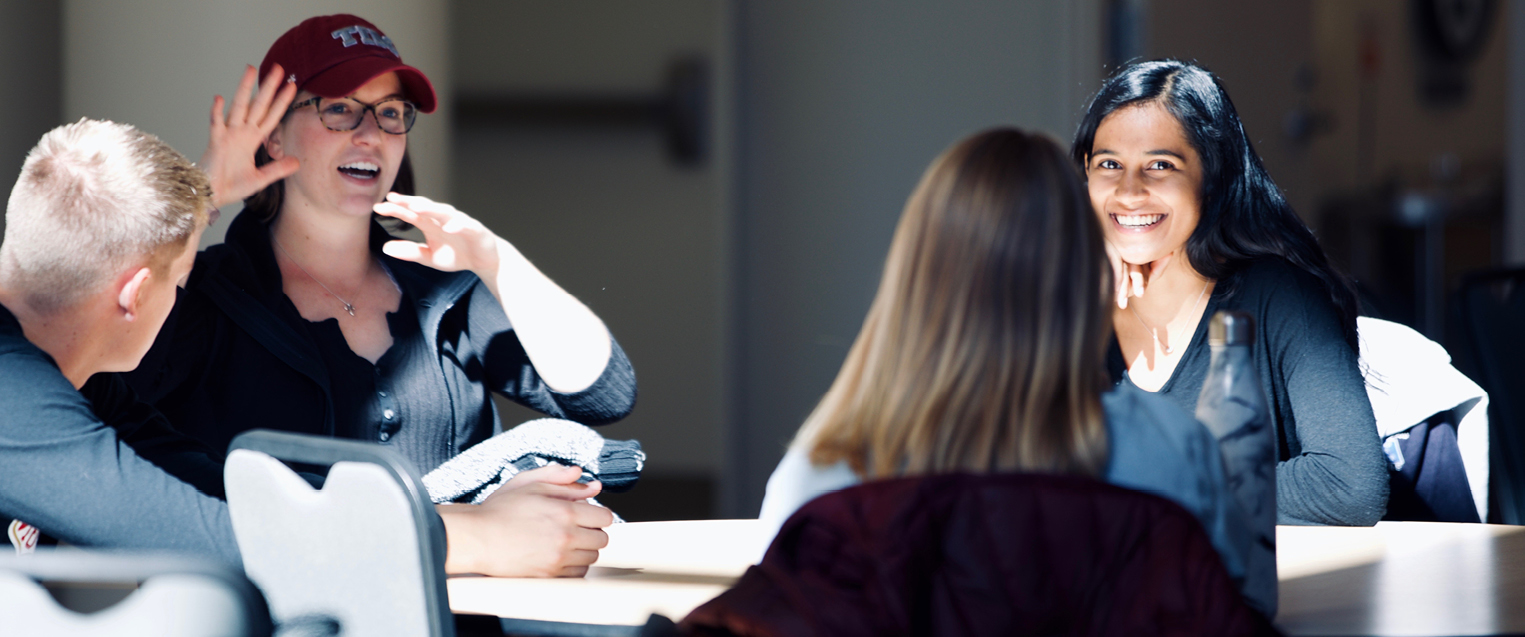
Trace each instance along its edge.
<path fill-rule="evenodd" d="M 1101 120 L 1142 104 L 1159 104 L 1176 117 L 1202 157 L 1202 215 L 1186 239 L 1191 267 L 1222 282 L 1257 258 L 1279 256 L 1324 283 L 1345 340 L 1359 351 L 1356 315 L 1360 306 L 1350 279 L 1334 270 L 1313 232 L 1270 180 L 1228 91 L 1206 69 L 1179 59 L 1153 59 L 1125 66 L 1107 78 L 1075 130 L 1071 157 L 1081 171 Z M 1232 293 L 1225 288 L 1225 294 Z"/>

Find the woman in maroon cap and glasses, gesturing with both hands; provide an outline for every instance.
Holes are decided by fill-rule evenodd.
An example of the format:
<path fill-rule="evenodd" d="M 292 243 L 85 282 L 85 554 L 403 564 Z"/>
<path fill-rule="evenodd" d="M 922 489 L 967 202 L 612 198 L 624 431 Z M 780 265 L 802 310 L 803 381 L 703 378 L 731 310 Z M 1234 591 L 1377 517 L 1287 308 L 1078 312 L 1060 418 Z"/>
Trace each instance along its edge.
<path fill-rule="evenodd" d="M 316 17 L 259 72 L 253 99 L 249 69 L 226 116 L 214 101 L 201 166 L 217 203 L 244 198 L 244 212 L 197 258 L 133 373 L 143 398 L 217 450 L 276 428 L 390 445 L 421 472 L 500 430 L 493 392 L 584 424 L 630 411 L 634 372 L 587 306 L 476 219 L 410 197 L 407 131 L 436 99 L 390 38 Z M 377 215 L 425 242 L 393 239 Z M 490 571 L 586 570 L 610 515 L 583 501 L 599 486 L 580 474 L 531 471 L 491 498 L 520 509 L 517 529 L 494 529 L 520 555 Z M 220 480 L 197 486 L 220 495 Z M 479 524 L 474 511 L 442 507 L 447 527 Z"/>

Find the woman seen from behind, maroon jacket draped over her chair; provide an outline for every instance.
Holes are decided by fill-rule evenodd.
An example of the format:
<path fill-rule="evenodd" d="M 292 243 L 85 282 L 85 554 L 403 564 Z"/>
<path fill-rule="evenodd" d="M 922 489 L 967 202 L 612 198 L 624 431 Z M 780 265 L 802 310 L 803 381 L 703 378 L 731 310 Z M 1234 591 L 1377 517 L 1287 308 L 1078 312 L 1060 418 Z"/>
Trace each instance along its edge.
<path fill-rule="evenodd" d="M 836 383 L 769 480 L 773 544 L 688 626 L 1028 634 L 1042 613 L 1127 607 L 1112 626 L 1254 629 L 1217 440 L 1159 396 L 1109 390 L 1110 279 L 1055 142 L 997 128 L 938 157 Z M 1074 594 L 1037 596 L 1049 584 Z M 944 613 L 968 622 L 933 629 Z M 842 617 L 869 628 L 839 632 Z"/>

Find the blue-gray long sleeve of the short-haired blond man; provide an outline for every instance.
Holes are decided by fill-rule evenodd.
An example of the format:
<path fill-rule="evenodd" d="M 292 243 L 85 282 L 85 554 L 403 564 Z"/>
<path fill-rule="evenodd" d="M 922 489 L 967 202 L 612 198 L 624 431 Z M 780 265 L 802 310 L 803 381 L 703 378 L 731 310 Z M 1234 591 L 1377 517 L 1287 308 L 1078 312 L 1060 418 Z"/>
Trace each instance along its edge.
<path fill-rule="evenodd" d="M 139 457 L 41 355 L 0 357 L 0 514 L 78 546 L 241 568 L 227 504 Z"/>

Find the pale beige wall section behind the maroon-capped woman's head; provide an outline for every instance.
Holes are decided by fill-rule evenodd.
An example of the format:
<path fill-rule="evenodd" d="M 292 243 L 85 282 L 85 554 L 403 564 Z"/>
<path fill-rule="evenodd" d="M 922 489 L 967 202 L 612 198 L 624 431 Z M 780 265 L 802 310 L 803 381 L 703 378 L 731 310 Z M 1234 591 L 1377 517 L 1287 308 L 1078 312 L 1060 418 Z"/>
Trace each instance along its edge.
<path fill-rule="evenodd" d="M 214 94 L 232 98 L 244 66 L 259 66 L 287 29 L 349 12 L 384 30 L 439 91 L 441 108 L 419 119 L 409 152 L 421 194 L 448 195 L 448 11 L 429 0 L 63 0 L 63 119 L 128 122 L 200 157 Z M 221 242 L 223 229 L 207 230 L 201 244 Z"/>

